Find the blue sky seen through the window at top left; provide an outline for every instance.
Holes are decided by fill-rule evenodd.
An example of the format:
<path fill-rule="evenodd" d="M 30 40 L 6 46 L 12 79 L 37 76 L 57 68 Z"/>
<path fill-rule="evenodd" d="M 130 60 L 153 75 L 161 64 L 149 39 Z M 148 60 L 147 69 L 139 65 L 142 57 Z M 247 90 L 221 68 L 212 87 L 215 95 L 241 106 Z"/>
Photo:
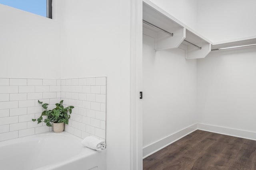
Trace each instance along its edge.
<path fill-rule="evenodd" d="M 46 0 L 0 0 L 0 4 L 18 8 L 40 16 L 47 16 Z"/>

